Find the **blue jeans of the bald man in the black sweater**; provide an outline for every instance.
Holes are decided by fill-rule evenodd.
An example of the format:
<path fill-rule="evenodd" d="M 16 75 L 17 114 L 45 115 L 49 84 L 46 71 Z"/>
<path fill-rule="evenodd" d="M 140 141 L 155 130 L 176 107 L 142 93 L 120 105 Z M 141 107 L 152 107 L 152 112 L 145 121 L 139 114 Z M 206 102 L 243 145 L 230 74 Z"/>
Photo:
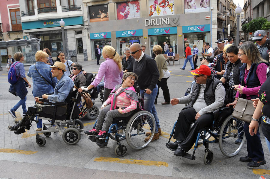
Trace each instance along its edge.
<path fill-rule="evenodd" d="M 143 95 L 143 91 L 144 90 L 140 89 L 141 96 Z M 157 93 L 158 93 L 158 85 L 156 85 L 156 87 L 153 89 L 151 94 L 145 93 L 144 98 L 143 98 L 143 101 L 144 101 L 143 110 L 150 112 L 155 118 L 155 122 L 156 122 L 155 134 L 158 133 L 158 128 L 160 128 L 159 120 L 158 120 L 158 113 L 157 113 L 155 105 L 154 105 Z M 150 130 L 152 131 L 152 126 L 151 126 Z"/>

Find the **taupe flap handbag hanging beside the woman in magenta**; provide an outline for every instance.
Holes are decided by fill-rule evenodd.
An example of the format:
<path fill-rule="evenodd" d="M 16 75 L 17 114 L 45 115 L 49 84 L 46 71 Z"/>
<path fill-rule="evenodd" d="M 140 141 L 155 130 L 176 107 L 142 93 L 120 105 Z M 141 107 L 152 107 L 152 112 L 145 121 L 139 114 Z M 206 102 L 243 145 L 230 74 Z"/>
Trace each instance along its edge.
<path fill-rule="evenodd" d="M 238 98 L 234 111 L 232 112 L 232 116 L 244 122 L 250 123 L 251 117 L 255 111 L 252 103 L 253 101 L 251 100 Z"/>

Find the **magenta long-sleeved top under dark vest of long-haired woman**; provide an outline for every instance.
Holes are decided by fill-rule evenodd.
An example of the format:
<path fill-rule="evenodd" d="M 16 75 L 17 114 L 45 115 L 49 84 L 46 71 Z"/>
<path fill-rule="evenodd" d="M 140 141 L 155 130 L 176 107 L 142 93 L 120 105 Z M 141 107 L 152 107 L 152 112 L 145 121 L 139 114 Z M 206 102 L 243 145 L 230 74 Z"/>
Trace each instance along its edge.
<path fill-rule="evenodd" d="M 266 80 L 266 69 L 267 69 L 267 65 L 265 63 L 260 63 L 256 69 L 256 75 L 261 83 L 261 85 L 265 82 Z M 247 83 L 247 74 L 248 74 L 248 71 L 247 69 L 245 69 L 245 76 L 244 76 L 244 82 L 245 84 Z M 240 84 L 239 84 L 240 85 Z M 243 94 L 247 95 L 247 100 L 250 100 L 250 95 L 258 95 L 258 91 L 260 89 L 261 86 L 257 86 L 257 87 L 254 87 L 254 88 L 247 88 L 247 85 L 245 85 L 245 87 L 243 88 Z M 236 93 L 236 98 L 239 97 L 239 92 L 237 91 Z"/>

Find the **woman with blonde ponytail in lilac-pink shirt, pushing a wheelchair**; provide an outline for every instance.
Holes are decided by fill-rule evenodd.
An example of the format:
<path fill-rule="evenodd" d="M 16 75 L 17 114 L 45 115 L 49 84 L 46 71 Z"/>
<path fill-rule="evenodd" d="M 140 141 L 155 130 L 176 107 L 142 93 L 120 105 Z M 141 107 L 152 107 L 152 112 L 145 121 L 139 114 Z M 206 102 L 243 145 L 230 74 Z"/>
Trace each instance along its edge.
<path fill-rule="evenodd" d="M 94 81 L 87 88 L 81 87 L 78 91 L 88 91 L 95 88 L 104 77 L 104 101 L 106 101 L 113 88 L 122 82 L 123 70 L 120 56 L 112 46 L 105 45 L 102 56 L 106 60 L 101 63 Z"/>

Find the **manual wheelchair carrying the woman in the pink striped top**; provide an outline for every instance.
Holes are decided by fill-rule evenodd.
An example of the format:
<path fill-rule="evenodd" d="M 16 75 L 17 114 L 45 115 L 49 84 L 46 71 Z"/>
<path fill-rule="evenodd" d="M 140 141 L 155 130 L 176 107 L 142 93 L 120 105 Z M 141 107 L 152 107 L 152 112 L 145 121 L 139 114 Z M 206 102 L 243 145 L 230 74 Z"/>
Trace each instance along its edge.
<path fill-rule="evenodd" d="M 143 108 L 143 97 L 138 97 L 139 102 Z M 97 121 L 96 121 L 97 123 Z M 93 128 L 95 128 L 96 123 Z M 152 131 L 155 131 L 155 118 L 148 111 L 143 111 L 137 107 L 136 110 L 128 117 L 116 117 L 113 119 L 112 125 L 109 128 L 105 139 L 96 139 L 95 136 L 89 136 L 88 138 L 92 142 L 96 142 L 99 147 L 106 147 L 109 142 L 109 138 L 116 140 L 113 146 L 114 153 L 118 157 L 123 157 L 127 153 L 127 147 L 120 143 L 120 140 L 126 139 L 128 145 L 135 150 L 145 148 L 154 137 L 151 135 L 150 139 L 145 142 L 146 130 L 152 127 Z"/>

